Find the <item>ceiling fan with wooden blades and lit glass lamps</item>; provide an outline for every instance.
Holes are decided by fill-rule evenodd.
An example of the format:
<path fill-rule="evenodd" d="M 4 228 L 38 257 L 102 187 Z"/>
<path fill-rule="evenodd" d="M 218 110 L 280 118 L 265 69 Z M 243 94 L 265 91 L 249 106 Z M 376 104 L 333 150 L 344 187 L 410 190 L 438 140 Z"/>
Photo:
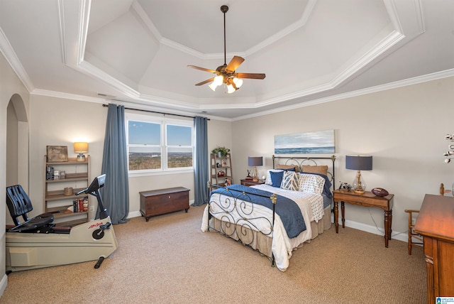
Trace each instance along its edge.
<path fill-rule="evenodd" d="M 233 93 L 243 85 L 242 78 L 249 79 L 264 79 L 265 74 L 259 73 L 237 73 L 236 69 L 243 63 L 244 58 L 240 56 L 233 56 L 232 60 L 228 65 L 226 64 L 226 13 L 228 11 L 228 6 L 221 6 L 221 11 L 224 14 L 224 64 L 216 68 L 216 70 L 206 69 L 204 67 L 197 67 L 196 65 L 188 65 L 196 70 L 202 70 L 205 72 L 211 72 L 216 74 L 216 76 L 211 77 L 210 79 L 204 80 L 197 83 L 196 85 L 205 85 L 206 83 L 213 82 L 209 87 L 214 91 L 218 85 L 225 83 L 227 85 L 227 92 Z"/>

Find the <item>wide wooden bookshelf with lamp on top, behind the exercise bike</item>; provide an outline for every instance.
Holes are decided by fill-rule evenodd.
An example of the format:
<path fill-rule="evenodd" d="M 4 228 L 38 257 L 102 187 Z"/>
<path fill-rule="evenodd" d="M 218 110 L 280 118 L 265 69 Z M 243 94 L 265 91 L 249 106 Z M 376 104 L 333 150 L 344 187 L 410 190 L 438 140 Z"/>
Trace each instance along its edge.
<path fill-rule="evenodd" d="M 87 211 L 74 212 L 73 201 L 87 197 L 87 195 L 75 195 L 89 185 L 90 178 L 90 156 L 85 161 L 77 161 L 77 158 L 68 158 L 65 162 L 48 162 L 44 156 L 44 212 L 51 212 L 54 215 L 54 223 L 59 226 L 76 226 L 89 221 L 90 201 L 88 199 Z M 65 171 L 65 178 L 48 179 L 47 168 Z M 65 195 L 65 188 L 72 188 L 72 194 Z M 68 210 L 70 208 L 71 210 Z"/>

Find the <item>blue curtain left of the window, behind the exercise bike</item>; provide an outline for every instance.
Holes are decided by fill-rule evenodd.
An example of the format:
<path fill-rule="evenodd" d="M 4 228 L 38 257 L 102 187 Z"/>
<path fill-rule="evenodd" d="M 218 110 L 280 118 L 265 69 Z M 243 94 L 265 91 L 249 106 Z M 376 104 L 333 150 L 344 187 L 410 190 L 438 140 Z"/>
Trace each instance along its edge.
<path fill-rule="evenodd" d="M 101 188 L 101 195 L 112 224 L 128 221 L 126 217 L 129 213 L 129 184 L 126 151 L 125 108 L 109 104 L 101 168 L 101 174 L 106 174 L 106 182 Z M 99 218 L 99 209 L 96 218 Z"/>

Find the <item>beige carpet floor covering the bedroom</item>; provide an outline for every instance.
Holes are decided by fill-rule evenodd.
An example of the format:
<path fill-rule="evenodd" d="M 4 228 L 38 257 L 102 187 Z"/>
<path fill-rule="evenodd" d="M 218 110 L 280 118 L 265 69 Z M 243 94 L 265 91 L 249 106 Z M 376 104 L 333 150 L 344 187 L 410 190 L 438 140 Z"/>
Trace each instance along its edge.
<path fill-rule="evenodd" d="M 204 207 L 114 226 L 118 249 L 96 261 L 9 274 L 0 303 L 426 303 L 422 248 L 334 226 L 293 252 L 285 272 L 216 232 Z"/>

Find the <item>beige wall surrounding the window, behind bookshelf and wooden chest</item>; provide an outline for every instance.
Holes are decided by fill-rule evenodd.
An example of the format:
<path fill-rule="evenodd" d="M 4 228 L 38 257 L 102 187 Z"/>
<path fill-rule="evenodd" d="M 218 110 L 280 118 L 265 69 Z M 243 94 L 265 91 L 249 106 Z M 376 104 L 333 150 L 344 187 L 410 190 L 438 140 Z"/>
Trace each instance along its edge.
<path fill-rule="evenodd" d="M 29 196 L 35 213 L 43 210 L 44 155 L 46 146 L 68 146 L 68 156 L 75 157 L 74 141 L 89 142 L 92 178 L 101 173 L 107 108 L 93 102 L 56 97 L 31 97 L 31 185 Z M 131 111 L 128 111 L 131 112 Z M 153 114 L 149 114 L 153 115 Z M 231 146 L 231 123 L 211 119 L 209 148 Z M 182 186 L 190 189 L 194 200 L 194 173 L 160 174 L 129 178 L 130 216 L 140 216 L 140 191 Z M 91 200 L 96 202 L 96 200 Z M 90 215 L 94 218 L 94 214 Z"/>

